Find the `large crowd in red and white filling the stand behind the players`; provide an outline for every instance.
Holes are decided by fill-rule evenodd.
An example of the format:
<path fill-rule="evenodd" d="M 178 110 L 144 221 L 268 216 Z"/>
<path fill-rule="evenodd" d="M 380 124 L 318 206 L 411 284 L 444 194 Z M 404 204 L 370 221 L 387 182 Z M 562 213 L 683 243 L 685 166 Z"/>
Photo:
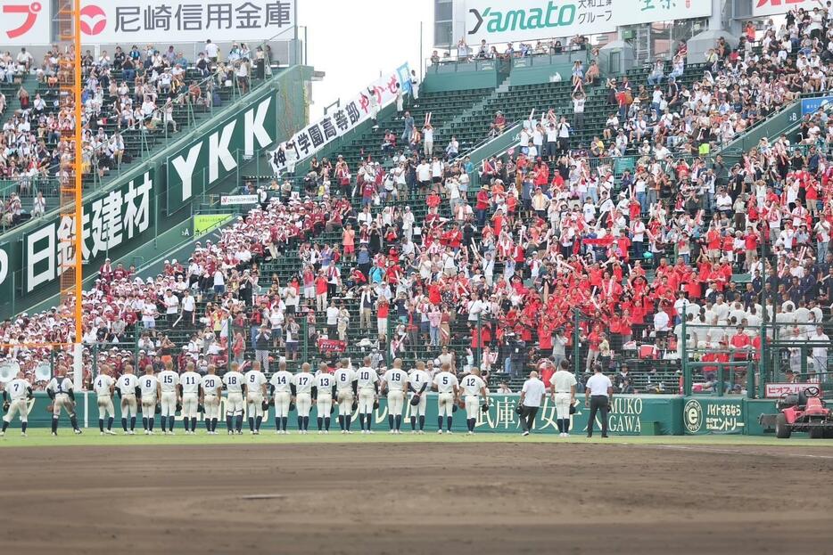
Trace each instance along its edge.
<path fill-rule="evenodd" d="M 788 36 L 811 56 L 829 49 L 827 14 L 816 32 L 802 13 Z M 587 370 L 622 370 L 625 353 L 675 359 L 685 347 L 715 364 L 699 386 L 707 390 L 719 387 L 717 363 L 761 356 L 765 321 L 781 324 L 779 339 L 810 346 L 790 348 L 787 368 L 805 363 L 817 380 L 833 302 L 833 164 L 826 134 L 810 129 L 826 129 L 826 116 L 808 119 L 805 144 L 763 141 L 732 167 L 707 155 L 804 92 L 802 72 L 815 69 L 746 43 L 715 52 L 690 91 L 654 66 L 661 88 L 644 104 L 641 88 L 611 80 L 615 97 L 628 91 L 633 102 L 590 148 L 560 136 L 570 124 L 540 110 L 520 148 L 478 167 L 413 148 L 393 152 L 390 168 L 315 159 L 300 187 L 289 176 L 246 184 L 257 208 L 216 243 L 197 242 L 187 261 L 146 280 L 105 265 L 85 293 L 84 342 L 118 349 L 141 321 L 140 356 L 204 366 L 243 360 L 247 348 L 293 361 L 304 339 L 359 334 L 380 369 L 388 354 L 418 347 L 458 371 L 517 374 L 518 352 L 552 371 L 577 336 Z M 684 68 L 684 45 L 675 55 L 672 73 Z M 633 170 L 619 175 L 611 153 L 632 155 Z M 261 275 L 285 254 L 297 258 L 288 282 Z M 6 322 L 4 341 L 70 339 L 71 324 L 43 316 Z M 187 330 L 186 345 L 166 337 L 173 329 Z M 626 370 L 617 383 L 631 388 Z"/>

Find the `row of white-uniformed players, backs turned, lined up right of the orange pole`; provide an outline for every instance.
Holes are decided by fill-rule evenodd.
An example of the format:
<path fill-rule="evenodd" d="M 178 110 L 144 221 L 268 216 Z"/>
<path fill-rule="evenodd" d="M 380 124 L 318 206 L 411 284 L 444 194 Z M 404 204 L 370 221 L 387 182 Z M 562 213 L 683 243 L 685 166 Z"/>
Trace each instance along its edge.
<path fill-rule="evenodd" d="M 249 432 L 260 434 L 260 425 L 269 404 L 275 406 L 276 432 L 279 434 L 287 433 L 289 413 L 293 410 L 297 412 L 300 433 L 307 434 L 313 404 L 318 412 L 319 433 L 329 433 L 337 405 L 339 427 L 343 434 L 352 433 L 352 413 L 357 408 L 362 433 L 372 434 L 373 412 L 378 407 L 380 395 L 387 396 L 388 426 L 393 434 L 401 433 L 402 413 L 408 396 L 413 407 L 412 431 L 425 433 L 425 393 L 428 390 L 439 393 L 440 432 L 445 419 L 446 429 L 451 433 L 452 414 L 460 406 L 466 409 L 469 434 L 473 434 L 477 411 L 488 407 L 488 390 L 476 368 L 458 380 L 450 371 L 449 364 L 444 364 L 432 378 L 425 371 L 425 363 L 416 363 L 416 367 L 408 372 L 402 368 L 402 361 L 396 359 L 380 377 L 370 363 L 367 357 L 359 369 L 353 369 L 348 361 L 341 361 L 336 363 L 332 373 L 322 363 L 315 374 L 311 373 L 309 363 L 301 364 L 301 371 L 295 374 L 287 371 L 286 364 L 281 363 L 270 380 L 260 370 L 257 361 L 252 363 L 252 370 L 245 373 L 238 371 L 238 365 L 232 363 L 230 370 L 222 377 L 217 375 L 213 366 L 209 366 L 208 373 L 202 376 L 194 371 L 193 363 L 189 363 L 181 374 L 172 370 L 170 365 L 156 374 L 148 365 L 141 376 L 136 376 L 128 365 L 118 380 L 111 377 L 111 368 L 103 364 L 101 373 L 93 380 L 99 407 L 98 425 L 102 435 L 115 433 L 112 430 L 115 420 L 113 396 L 120 396 L 121 427 L 128 435 L 135 434 L 140 406 L 146 435 L 154 433 L 157 413 L 161 415 L 162 433 L 173 434 L 177 412 L 181 413 L 186 434 L 195 433 L 198 414 L 203 412 L 205 428 L 209 434 L 215 435 L 223 391 L 227 395 L 225 417 L 228 434 L 243 433 L 244 407 Z"/>

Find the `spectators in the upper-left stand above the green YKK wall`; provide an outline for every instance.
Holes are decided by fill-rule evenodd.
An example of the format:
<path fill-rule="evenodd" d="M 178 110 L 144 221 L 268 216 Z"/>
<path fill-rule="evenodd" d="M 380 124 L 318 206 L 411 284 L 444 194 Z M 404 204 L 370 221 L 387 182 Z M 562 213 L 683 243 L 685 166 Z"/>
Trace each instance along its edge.
<path fill-rule="evenodd" d="M 248 92 L 252 72 L 262 78 L 270 56 L 268 46 L 252 51 L 246 43 L 235 43 L 221 60 L 210 40 L 196 60 L 173 45 L 165 51 L 153 45 L 117 46 L 97 56 L 87 50 L 81 57 L 82 174 L 102 179 L 129 162 L 127 133 L 177 133 L 183 123 L 177 121 L 178 109 L 186 102 L 210 109 L 222 103 L 224 87 Z M 0 180 L 8 183 L 3 188 L 8 200 L 0 209 L 4 228 L 44 214 L 45 199 L 54 198 L 57 184 L 71 177 L 77 122 L 75 98 L 64 87 L 73 82 L 73 68 L 73 50 L 59 45 L 52 45 L 39 64 L 25 48 L 16 58 L 8 52 L 0 56 L 0 83 L 16 86 L 20 103 L 5 114 L 8 101 L 0 93 Z M 36 78 L 34 90 L 25 83 L 30 74 Z M 35 200 L 23 208 L 21 196 Z"/>

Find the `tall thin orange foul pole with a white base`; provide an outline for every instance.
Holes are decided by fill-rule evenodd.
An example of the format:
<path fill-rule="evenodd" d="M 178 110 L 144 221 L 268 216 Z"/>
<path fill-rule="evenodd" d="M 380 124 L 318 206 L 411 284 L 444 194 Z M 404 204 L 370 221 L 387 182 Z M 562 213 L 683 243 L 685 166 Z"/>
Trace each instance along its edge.
<path fill-rule="evenodd" d="M 82 129 L 81 129 L 81 0 L 73 0 L 72 6 L 73 42 L 75 61 L 73 73 L 75 83 L 75 344 L 72 353 L 73 382 L 77 391 L 84 385 L 84 363 L 81 339 L 84 334 L 83 303 L 81 291 L 84 283 L 84 206 L 82 205 L 82 188 L 84 182 L 81 175 L 83 162 Z"/>

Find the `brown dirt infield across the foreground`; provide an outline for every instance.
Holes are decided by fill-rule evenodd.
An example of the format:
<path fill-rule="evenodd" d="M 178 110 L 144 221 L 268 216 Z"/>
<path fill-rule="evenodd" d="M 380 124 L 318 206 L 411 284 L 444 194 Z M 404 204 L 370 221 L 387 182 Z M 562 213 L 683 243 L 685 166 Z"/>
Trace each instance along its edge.
<path fill-rule="evenodd" d="M 7 553 L 833 552 L 833 450 L 0 450 Z M 37 471 L 35 471 L 37 469 Z"/>

